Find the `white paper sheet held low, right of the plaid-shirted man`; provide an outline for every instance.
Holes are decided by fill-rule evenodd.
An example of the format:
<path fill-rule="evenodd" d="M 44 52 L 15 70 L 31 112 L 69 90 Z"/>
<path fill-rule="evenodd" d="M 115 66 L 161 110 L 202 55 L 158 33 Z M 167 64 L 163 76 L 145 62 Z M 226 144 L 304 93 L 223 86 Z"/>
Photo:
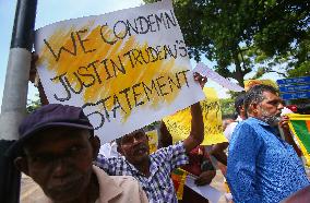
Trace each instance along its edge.
<path fill-rule="evenodd" d="M 205 184 L 205 186 L 196 186 L 194 183 L 195 177 L 189 175 L 186 179 L 186 186 L 188 186 L 190 189 L 202 195 L 203 198 L 207 199 L 211 203 L 217 203 L 218 200 L 222 196 L 222 192 L 219 192 L 217 189 Z"/>

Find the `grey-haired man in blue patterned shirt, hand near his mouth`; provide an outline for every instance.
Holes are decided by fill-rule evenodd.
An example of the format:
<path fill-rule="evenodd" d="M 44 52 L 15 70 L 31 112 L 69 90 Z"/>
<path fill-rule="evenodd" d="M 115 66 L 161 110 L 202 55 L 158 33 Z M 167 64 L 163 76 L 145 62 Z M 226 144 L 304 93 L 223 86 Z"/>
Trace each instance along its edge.
<path fill-rule="evenodd" d="M 277 91 L 253 86 L 246 94 L 245 108 L 248 119 L 236 127 L 228 151 L 234 202 L 279 202 L 309 186 L 291 136 L 289 143 L 279 136 L 277 127 L 287 132 L 288 119 L 281 118 L 284 106 Z"/>

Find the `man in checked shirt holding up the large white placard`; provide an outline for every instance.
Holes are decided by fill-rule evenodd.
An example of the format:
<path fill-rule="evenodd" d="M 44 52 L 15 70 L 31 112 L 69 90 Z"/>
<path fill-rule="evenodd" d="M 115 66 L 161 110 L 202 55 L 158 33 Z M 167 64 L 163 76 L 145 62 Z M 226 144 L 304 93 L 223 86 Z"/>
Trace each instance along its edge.
<path fill-rule="evenodd" d="M 106 158 L 99 155 L 96 165 L 109 175 L 133 176 L 150 202 L 177 203 L 170 174 L 188 164 L 188 154 L 203 141 L 204 126 L 199 103 L 191 106 L 191 132 L 184 141 L 150 154 L 147 136 L 140 129 L 117 140 L 122 157 Z"/>

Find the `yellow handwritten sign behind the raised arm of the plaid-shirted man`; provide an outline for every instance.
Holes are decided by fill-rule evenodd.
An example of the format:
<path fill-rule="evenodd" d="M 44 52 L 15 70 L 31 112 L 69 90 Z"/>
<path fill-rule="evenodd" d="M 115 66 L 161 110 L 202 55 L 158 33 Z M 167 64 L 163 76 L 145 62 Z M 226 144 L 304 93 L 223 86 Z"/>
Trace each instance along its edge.
<path fill-rule="evenodd" d="M 204 87 L 203 92 L 206 95 L 206 99 L 200 103 L 204 122 L 204 140 L 201 145 L 227 142 L 227 139 L 223 134 L 222 111 L 216 92 L 211 87 Z M 190 108 L 178 111 L 172 116 L 165 117 L 163 120 L 172 135 L 174 143 L 184 140 L 190 134 Z"/>

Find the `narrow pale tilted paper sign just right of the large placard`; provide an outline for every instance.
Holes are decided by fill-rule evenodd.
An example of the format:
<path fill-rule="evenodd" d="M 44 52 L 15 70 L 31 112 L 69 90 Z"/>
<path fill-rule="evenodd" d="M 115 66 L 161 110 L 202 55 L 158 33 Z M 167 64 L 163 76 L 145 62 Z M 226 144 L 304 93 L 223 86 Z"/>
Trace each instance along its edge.
<path fill-rule="evenodd" d="M 228 88 L 229 91 L 235 91 L 235 92 L 245 91 L 245 88 L 219 75 L 217 72 L 214 72 L 212 69 L 207 68 L 202 62 L 199 62 L 196 67 L 193 69 L 193 71 L 204 76 L 207 76 L 208 79 L 213 80 L 223 87 Z"/>

